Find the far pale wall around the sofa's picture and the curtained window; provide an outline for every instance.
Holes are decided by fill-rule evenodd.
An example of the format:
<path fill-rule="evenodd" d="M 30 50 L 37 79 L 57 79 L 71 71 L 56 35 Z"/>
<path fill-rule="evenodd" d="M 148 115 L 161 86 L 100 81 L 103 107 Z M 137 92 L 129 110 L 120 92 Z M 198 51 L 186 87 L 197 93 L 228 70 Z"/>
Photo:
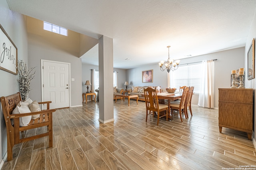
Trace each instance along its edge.
<path fill-rule="evenodd" d="M 231 70 L 244 67 L 244 47 L 200 55 L 182 59 L 180 64 L 199 62 L 203 60 L 218 59 L 214 63 L 214 106 L 218 107 L 218 88 L 230 88 Z M 153 82 L 142 83 L 142 71 L 153 69 Z M 161 86 L 167 87 L 167 71 L 161 71 L 158 63 L 126 70 L 126 80 L 130 86 Z M 245 83 L 248 87 L 248 84 Z M 198 94 L 193 95 L 192 104 L 198 104 Z"/>

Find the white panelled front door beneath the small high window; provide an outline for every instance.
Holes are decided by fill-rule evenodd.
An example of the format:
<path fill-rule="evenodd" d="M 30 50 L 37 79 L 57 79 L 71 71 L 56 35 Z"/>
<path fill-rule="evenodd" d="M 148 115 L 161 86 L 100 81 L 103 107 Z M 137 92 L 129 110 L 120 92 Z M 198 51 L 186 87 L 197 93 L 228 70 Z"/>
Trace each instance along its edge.
<path fill-rule="evenodd" d="M 51 109 L 69 107 L 70 63 L 42 60 L 42 101 L 52 101 Z"/>

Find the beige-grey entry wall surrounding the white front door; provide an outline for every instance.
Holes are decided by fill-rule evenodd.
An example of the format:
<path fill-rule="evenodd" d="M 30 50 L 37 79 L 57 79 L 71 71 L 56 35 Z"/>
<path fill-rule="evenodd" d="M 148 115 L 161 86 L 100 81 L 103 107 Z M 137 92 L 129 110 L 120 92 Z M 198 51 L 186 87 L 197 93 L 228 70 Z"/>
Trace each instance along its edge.
<path fill-rule="evenodd" d="M 82 101 L 82 62 L 78 57 L 66 53 L 62 49 L 52 47 L 44 38 L 28 33 L 28 61 L 29 67 L 36 66 L 36 76 L 31 82 L 31 91 L 29 97 L 32 100 L 41 101 L 41 59 L 51 61 L 61 61 L 70 63 L 71 78 L 71 104 L 72 106 L 81 106 Z"/>

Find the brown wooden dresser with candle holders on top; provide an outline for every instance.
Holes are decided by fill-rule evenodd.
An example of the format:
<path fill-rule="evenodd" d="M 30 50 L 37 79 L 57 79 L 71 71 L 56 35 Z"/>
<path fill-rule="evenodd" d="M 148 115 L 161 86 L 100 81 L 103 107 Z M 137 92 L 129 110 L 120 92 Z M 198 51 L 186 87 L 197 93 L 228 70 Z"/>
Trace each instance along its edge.
<path fill-rule="evenodd" d="M 252 140 L 253 89 L 219 88 L 219 130 L 246 132 Z"/>

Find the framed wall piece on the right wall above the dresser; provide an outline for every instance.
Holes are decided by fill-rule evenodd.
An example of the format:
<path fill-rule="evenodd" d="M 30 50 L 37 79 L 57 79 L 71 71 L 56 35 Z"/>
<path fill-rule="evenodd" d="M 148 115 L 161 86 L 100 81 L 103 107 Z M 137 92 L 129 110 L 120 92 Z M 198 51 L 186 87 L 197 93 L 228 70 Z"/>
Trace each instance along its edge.
<path fill-rule="evenodd" d="M 255 39 L 252 39 L 252 43 L 247 52 L 247 64 L 248 64 L 248 80 L 254 78 L 254 60 L 255 60 Z"/>

